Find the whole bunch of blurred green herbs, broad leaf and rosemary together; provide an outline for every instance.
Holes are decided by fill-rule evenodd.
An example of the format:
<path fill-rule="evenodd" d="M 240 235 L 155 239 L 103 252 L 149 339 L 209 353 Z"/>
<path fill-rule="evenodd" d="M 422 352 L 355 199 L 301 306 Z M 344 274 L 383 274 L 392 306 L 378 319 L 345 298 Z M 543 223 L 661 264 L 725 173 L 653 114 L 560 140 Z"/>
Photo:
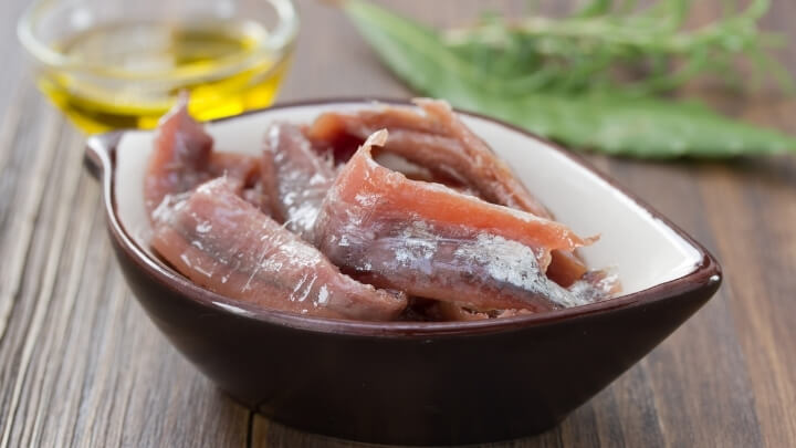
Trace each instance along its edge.
<path fill-rule="evenodd" d="M 362 0 L 343 8 L 386 65 L 417 91 L 574 147 L 646 158 L 796 149 L 793 137 L 698 102 L 660 97 L 696 75 L 735 73 L 739 54 L 792 88 L 764 50 L 776 37 L 756 27 L 765 0 L 683 31 L 688 3 L 660 0 L 643 11 L 618 11 L 614 2 L 596 0 L 561 20 L 493 15 L 446 32 Z M 628 79 L 633 72 L 640 74 Z"/>

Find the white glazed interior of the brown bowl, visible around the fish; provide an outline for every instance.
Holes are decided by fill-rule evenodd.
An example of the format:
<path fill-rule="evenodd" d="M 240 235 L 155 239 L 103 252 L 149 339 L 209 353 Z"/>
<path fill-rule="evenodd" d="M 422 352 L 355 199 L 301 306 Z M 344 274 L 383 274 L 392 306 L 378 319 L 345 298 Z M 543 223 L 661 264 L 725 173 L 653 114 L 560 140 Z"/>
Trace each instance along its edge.
<path fill-rule="evenodd" d="M 327 111 L 374 107 L 373 103 L 301 105 L 208 125 L 216 149 L 259 154 L 272 121 L 308 123 Z M 700 252 L 635 200 L 548 144 L 489 119 L 462 119 L 512 167 L 556 219 L 578 235 L 600 235 L 582 249 L 590 268 L 612 268 L 622 293 L 649 289 L 693 272 Z M 144 173 L 153 149 L 153 132 L 125 133 L 117 146 L 115 200 L 119 221 L 149 251 L 149 221 L 144 208 Z M 149 252 L 151 254 L 151 252 Z"/>

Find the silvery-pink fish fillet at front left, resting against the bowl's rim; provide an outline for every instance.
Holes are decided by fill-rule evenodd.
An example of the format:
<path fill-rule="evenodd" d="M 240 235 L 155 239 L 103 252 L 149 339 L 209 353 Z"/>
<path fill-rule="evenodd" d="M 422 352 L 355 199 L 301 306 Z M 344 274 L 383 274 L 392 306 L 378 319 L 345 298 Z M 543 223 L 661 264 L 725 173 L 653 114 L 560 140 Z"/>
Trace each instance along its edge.
<path fill-rule="evenodd" d="M 284 229 L 218 178 L 160 212 L 153 248 L 196 284 L 265 309 L 388 321 L 404 294 L 342 274 L 317 249 Z"/>

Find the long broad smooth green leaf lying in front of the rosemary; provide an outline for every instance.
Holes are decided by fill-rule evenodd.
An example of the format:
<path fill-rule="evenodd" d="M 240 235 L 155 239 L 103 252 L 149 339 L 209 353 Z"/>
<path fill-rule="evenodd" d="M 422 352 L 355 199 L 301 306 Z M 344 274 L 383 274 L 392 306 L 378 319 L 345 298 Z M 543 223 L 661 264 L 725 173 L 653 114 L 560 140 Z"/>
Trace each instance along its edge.
<path fill-rule="evenodd" d="M 343 7 L 385 64 L 415 90 L 567 145 L 643 158 L 796 149 L 796 138 L 723 117 L 692 102 L 630 95 L 611 87 L 577 94 L 533 88 L 496 94 L 493 87 L 503 79 L 488 77 L 434 30 L 366 1 L 348 0 Z"/>

